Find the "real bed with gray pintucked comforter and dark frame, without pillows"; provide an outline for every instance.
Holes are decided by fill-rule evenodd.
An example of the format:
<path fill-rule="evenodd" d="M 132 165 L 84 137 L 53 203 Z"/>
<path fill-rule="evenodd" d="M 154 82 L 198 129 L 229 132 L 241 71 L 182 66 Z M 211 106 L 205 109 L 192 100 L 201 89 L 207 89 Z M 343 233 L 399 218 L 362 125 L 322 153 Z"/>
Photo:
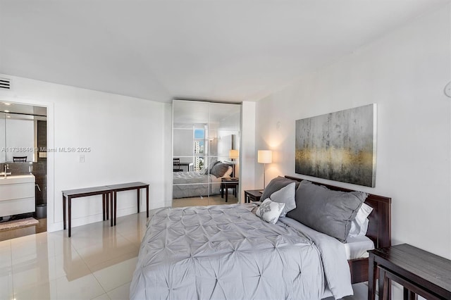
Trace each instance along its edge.
<path fill-rule="evenodd" d="M 366 197 L 373 246 L 390 244 L 390 201 Z M 368 258 L 347 260 L 335 237 L 292 218 L 266 223 L 254 211 L 255 204 L 154 211 L 130 299 L 340 299 L 367 280 Z"/>

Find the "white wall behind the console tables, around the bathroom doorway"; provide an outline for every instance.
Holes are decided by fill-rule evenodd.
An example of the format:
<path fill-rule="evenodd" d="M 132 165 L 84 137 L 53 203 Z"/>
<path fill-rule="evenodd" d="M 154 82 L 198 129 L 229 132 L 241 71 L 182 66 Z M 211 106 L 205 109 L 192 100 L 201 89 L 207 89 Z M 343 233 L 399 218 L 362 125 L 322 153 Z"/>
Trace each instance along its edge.
<path fill-rule="evenodd" d="M 0 100 L 49 108 L 48 147 L 56 149 L 48 157 L 49 230 L 63 228 L 64 189 L 142 181 L 151 185 L 150 208 L 170 203 L 165 199 L 164 180 L 170 164 L 163 168 L 168 161 L 164 128 L 171 127 L 167 104 L 23 77 L 1 77 L 10 78 L 13 89 L 0 92 Z M 61 147 L 90 147 L 91 151 L 84 154 L 85 163 L 80 163 L 80 153 L 58 151 Z M 118 216 L 135 213 L 136 206 L 135 191 L 118 194 Z M 141 208 L 145 209 L 145 201 Z M 102 220 L 101 196 L 73 200 L 72 211 L 73 226 Z"/>

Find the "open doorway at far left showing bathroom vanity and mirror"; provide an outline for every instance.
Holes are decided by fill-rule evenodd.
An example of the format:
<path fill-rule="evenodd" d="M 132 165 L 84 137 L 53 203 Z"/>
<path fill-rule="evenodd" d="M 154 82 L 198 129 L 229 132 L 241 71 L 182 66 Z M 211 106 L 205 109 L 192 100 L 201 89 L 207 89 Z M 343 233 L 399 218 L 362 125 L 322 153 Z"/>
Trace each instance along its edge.
<path fill-rule="evenodd" d="M 47 107 L 0 100 L 0 241 L 47 231 Z"/>

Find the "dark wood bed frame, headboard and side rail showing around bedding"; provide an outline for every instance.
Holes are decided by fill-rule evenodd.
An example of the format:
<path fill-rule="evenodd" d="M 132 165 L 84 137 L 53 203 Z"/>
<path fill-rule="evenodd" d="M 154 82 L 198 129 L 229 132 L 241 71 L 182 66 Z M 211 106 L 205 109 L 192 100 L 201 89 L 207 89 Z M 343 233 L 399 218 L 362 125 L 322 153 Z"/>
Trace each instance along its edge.
<path fill-rule="evenodd" d="M 285 176 L 285 178 L 302 181 L 304 179 Z M 309 180 L 311 181 L 311 180 Z M 313 181 L 311 181 L 313 182 Z M 335 187 L 333 185 L 325 185 L 319 182 L 313 182 L 315 185 L 323 185 L 328 189 L 341 192 L 352 192 L 352 189 L 345 189 L 343 187 Z M 368 231 L 366 236 L 369 237 L 376 248 L 383 248 L 391 246 L 391 203 L 392 199 L 385 196 L 378 196 L 369 194 L 365 203 L 373 208 L 369 215 Z M 368 258 L 350 259 L 348 261 L 351 270 L 351 282 L 365 282 L 368 281 Z"/>

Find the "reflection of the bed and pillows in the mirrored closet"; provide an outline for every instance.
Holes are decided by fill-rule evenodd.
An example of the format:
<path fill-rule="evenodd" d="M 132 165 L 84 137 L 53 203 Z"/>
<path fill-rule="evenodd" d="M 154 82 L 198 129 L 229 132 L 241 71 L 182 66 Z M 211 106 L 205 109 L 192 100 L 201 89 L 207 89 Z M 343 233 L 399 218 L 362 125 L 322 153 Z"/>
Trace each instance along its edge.
<path fill-rule="evenodd" d="M 220 194 L 221 179 L 230 177 L 232 171 L 227 163 L 217 162 L 209 172 L 173 172 L 173 199 Z"/>

